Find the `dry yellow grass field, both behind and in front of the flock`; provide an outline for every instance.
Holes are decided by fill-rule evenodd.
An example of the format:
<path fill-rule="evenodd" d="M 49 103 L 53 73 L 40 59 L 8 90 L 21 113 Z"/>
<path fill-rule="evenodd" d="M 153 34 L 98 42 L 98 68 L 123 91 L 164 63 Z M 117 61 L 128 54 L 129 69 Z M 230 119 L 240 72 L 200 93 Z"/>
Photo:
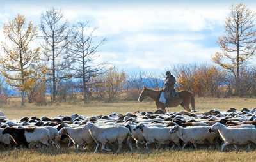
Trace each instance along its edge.
<path fill-rule="evenodd" d="M 254 98 L 196 98 L 196 108 L 200 112 L 205 112 L 211 108 L 227 110 L 228 108 L 254 108 L 256 99 Z M 92 102 L 88 105 L 82 103 L 54 103 L 47 106 L 36 106 L 27 104 L 26 107 L 20 107 L 18 99 L 12 99 L 9 105 L 0 105 L 0 110 L 6 114 L 9 119 L 20 119 L 24 116 L 54 117 L 56 115 L 70 115 L 72 113 L 90 115 L 109 114 L 110 112 L 154 111 L 155 105 L 152 102 L 125 102 L 125 103 L 100 103 Z M 181 107 L 170 108 L 172 112 L 179 112 Z M 220 152 L 216 150 L 205 149 L 185 149 L 184 151 L 152 151 L 150 154 L 144 152 L 133 152 L 124 154 L 93 154 L 92 152 L 76 153 L 74 149 L 19 149 L 12 151 L 1 151 L 0 161 L 255 161 L 256 151 L 246 152 Z"/>

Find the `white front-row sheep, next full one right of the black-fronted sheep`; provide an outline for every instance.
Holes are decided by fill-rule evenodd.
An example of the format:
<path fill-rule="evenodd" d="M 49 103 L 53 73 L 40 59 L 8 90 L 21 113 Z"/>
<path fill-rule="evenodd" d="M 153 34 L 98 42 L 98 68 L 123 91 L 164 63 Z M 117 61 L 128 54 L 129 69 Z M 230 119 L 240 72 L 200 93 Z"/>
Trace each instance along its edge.
<path fill-rule="evenodd" d="M 58 135 L 67 135 L 72 140 L 74 146 L 76 145 L 76 152 L 78 152 L 79 146 L 83 144 L 93 144 L 92 136 L 90 135 L 89 131 L 83 129 L 83 127 L 63 127 L 60 129 L 60 131 L 58 131 Z"/>

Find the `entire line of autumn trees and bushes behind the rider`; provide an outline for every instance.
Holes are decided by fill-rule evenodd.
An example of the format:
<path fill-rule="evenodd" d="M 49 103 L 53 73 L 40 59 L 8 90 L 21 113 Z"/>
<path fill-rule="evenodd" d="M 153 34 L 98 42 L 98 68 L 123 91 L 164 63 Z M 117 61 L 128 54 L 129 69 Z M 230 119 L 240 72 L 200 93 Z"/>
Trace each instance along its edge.
<path fill-rule="evenodd" d="M 255 13 L 244 4 L 235 4 L 225 21 L 225 34 L 217 43 L 221 51 L 212 55 L 215 64 L 180 64 L 170 68 L 177 78 L 176 89 L 198 96 L 254 96 L 256 69 L 250 59 L 256 51 Z M 97 51 L 106 41 L 95 35 L 89 22 L 75 25 L 61 10 L 42 13 L 40 24 L 17 15 L 3 26 L 6 41 L 1 43 L 1 75 L 20 91 L 21 105 L 29 103 L 91 99 L 138 99 L 144 85 L 163 87 L 164 75 L 145 71 L 126 73 L 97 61 Z M 40 45 L 38 45 L 40 40 Z M 164 73 L 164 72 L 163 72 Z M 0 82 L 0 100 L 6 88 Z"/>

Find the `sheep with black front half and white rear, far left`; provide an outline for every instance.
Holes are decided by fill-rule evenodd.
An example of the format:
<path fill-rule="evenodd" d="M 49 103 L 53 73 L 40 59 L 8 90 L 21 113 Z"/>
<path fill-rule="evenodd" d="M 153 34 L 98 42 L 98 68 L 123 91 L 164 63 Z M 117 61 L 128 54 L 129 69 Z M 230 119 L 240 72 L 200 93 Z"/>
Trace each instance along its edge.
<path fill-rule="evenodd" d="M 40 142 L 41 144 L 49 146 L 50 133 L 49 130 L 42 127 L 24 128 L 24 127 L 6 127 L 3 130 L 4 134 L 10 134 L 17 147 L 23 144 L 29 149 L 30 143 Z"/>

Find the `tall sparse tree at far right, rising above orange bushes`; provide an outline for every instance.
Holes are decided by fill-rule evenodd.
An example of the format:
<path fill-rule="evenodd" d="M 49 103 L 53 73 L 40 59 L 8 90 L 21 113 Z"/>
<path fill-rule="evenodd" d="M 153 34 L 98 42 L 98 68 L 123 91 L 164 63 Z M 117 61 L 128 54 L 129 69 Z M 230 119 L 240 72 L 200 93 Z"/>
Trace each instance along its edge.
<path fill-rule="evenodd" d="M 255 55 L 256 50 L 255 13 L 244 4 L 232 6 L 225 31 L 226 34 L 218 40 L 222 52 L 216 52 L 212 61 L 233 73 L 239 94 L 239 68 Z"/>

